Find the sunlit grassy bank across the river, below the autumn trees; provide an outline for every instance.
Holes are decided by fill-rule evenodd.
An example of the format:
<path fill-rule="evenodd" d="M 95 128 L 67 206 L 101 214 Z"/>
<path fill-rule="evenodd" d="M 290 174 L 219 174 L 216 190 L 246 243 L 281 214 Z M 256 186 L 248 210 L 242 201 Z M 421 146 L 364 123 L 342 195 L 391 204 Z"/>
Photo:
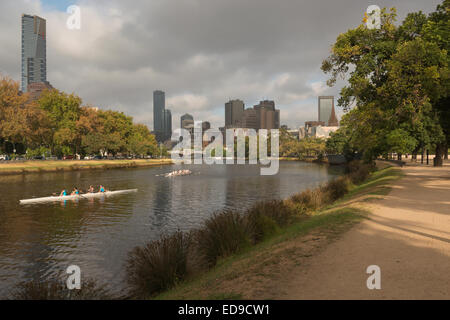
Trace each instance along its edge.
<path fill-rule="evenodd" d="M 114 168 L 137 168 L 171 164 L 171 159 L 136 160 L 60 160 L 60 161 L 8 161 L 0 163 L 0 175 L 58 172 L 74 170 L 104 170 Z"/>

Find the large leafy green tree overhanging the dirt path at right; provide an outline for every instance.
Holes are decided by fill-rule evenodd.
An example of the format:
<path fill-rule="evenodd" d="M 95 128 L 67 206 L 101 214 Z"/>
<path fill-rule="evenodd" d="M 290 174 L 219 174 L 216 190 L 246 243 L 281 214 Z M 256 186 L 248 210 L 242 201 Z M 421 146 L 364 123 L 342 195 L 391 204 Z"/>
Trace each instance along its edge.
<path fill-rule="evenodd" d="M 411 13 L 399 27 L 395 9 L 383 9 L 380 29 L 361 24 L 339 35 L 323 62 L 329 85 L 348 78 L 338 100 L 349 112 L 341 124 L 367 160 L 394 151 L 388 137 L 410 142 L 396 145 L 403 152 L 435 146 L 441 159 L 448 141 L 448 4 L 429 17 Z"/>

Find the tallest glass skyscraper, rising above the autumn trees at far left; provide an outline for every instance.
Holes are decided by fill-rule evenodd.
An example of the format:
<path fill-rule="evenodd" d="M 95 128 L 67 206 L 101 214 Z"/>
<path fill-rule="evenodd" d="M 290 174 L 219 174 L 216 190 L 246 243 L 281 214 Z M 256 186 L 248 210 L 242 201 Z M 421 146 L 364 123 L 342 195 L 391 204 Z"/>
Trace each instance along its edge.
<path fill-rule="evenodd" d="M 38 16 L 22 15 L 21 90 L 28 84 L 47 81 L 46 21 Z"/>

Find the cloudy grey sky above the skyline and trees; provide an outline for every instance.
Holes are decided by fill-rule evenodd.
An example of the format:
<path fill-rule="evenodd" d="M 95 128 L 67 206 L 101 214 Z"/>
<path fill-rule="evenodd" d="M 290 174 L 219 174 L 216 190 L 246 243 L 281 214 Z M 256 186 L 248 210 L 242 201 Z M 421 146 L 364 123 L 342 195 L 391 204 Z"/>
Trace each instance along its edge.
<path fill-rule="evenodd" d="M 317 119 L 328 88 L 320 65 L 367 7 L 433 11 L 439 0 L 2 0 L 0 73 L 20 79 L 22 13 L 47 20 L 47 77 L 85 104 L 152 123 L 152 92 L 166 92 L 173 126 L 186 112 L 224 124 L 224 103 L 275 100 L 281 123 Z M 81 29 L 69 30 L 69 5 Z"/>

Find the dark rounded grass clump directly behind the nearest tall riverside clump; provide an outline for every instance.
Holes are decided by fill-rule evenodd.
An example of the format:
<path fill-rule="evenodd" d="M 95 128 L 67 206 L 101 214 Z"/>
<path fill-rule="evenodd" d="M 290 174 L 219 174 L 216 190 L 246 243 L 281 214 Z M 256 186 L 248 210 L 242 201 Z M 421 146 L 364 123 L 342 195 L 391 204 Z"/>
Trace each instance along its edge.
<path fill-rule="evenodd" d="M 214 214 L 196 233 L 196 245 L 209 267 L 249 244 L 245 219 L 234 211 Z"/>

